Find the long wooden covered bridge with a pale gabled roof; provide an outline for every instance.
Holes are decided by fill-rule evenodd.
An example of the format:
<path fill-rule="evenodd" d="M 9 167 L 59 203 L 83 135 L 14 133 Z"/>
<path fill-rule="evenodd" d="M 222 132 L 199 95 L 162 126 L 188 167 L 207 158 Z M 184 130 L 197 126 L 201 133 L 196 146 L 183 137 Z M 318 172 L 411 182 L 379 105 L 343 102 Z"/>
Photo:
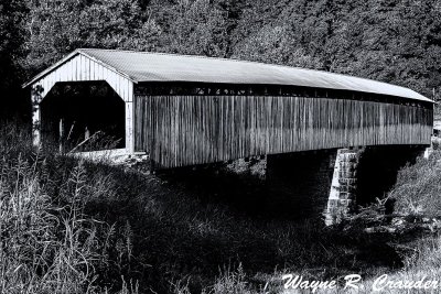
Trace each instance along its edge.
<path fill-rule="evenodd" d="M 106 133 L 126 154 L 150 154 L 155 168 L 426 145 L 433 127 L 432 100 L 408 88 L 234 59 L 80 48 L 24 87 L 35 102 L 35 144 Z"/>

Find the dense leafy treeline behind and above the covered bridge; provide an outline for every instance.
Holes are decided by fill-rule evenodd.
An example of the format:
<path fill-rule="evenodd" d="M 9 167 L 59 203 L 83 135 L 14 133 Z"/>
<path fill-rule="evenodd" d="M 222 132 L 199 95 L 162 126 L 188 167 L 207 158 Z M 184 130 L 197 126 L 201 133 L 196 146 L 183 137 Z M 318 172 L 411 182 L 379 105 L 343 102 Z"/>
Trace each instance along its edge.
<path fill-rule="evenodd" d="M 77 47 L 198 54 L 441 90 L 441 1 L 9 0 L 0 3 L 2 110 Z M 9 104 L 9 109 L 3 107 Z"/>

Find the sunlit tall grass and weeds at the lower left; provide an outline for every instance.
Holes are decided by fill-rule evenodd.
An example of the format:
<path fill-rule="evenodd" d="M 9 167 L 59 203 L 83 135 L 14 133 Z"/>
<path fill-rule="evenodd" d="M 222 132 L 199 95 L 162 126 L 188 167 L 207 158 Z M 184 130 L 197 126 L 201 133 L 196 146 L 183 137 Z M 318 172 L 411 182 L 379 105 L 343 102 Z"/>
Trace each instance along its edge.
<path fill-rule="evenodd" d="M 112 230 L 85 214 L 96 187 L 83 162 L 35 153 L 30 142 L 26 131 L 1 129 L 0 293 L 103 293 L 97 269 L 109 266 Z"/>

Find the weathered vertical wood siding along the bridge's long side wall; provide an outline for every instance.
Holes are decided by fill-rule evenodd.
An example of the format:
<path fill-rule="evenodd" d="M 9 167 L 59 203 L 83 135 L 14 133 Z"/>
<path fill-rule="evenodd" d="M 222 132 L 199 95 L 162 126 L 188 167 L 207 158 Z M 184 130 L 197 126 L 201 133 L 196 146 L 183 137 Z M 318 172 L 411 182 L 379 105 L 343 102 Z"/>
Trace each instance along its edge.
<path fill-rule="evenodd" d="M 135 149 L 157 168 L 357 145 L 429 144 L 433 110 L 330 98 L 138 96 Z"/>

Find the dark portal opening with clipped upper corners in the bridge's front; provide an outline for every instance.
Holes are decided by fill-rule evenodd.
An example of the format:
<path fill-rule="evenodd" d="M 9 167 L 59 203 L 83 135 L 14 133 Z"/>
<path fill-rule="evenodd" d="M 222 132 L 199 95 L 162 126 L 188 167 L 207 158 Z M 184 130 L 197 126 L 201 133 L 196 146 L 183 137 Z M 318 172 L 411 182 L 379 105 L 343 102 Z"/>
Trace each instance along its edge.
<path fill-rule="evenodd" d="M 122 149 L 125 101 L 106 81 L 57 83 L 40 105 L 44 148 Z"/>

